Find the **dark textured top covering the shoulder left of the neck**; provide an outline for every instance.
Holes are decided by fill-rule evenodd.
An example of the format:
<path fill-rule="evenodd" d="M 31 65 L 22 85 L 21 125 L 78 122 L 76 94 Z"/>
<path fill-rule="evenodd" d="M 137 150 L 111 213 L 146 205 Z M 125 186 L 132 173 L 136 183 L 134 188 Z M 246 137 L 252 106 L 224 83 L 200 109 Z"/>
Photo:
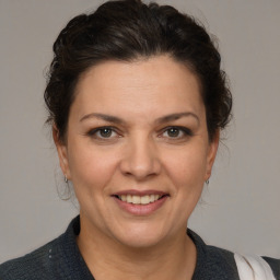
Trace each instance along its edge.
<path fill-rule="evenodd" d="M 93 280 L 75 243 L 79 232 L 80 218 L 77 217 L 58 238 L 24 257 L 0 265 L 0 279 Z"/>

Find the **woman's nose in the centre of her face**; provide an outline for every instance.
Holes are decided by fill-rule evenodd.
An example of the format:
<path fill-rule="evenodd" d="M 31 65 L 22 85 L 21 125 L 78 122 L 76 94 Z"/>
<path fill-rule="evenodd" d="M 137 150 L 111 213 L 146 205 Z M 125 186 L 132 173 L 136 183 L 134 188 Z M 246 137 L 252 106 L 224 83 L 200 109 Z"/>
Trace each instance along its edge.
<path fill-rule="evenodd" d="M 120 163 L 121 173 L 132 176 L 137 180 L 159 175 L 161 161 L 155 144 L 152 140 L 137 137 L 126 145 Z"/>

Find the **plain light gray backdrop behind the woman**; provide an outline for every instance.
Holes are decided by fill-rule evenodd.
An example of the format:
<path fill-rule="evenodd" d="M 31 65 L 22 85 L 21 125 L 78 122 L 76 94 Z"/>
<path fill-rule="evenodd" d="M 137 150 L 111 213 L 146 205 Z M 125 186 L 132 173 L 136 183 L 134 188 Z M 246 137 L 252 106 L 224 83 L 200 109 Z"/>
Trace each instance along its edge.
<path fill-rule="evenodd" d="M 44 126 L 51 44 L 94 0 L 0 0 L 0 262 L 62 233 L 78 212 Z M 280 1 L 174 0 L 220 39 L 234 119 L 189 226 L 206 242 L 280 258 Z"/>

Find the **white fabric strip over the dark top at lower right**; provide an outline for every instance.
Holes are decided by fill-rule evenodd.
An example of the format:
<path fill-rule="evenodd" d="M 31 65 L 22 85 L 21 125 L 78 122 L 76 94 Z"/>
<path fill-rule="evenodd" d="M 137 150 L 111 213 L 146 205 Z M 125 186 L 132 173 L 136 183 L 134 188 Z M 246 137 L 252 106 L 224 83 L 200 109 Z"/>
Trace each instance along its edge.
<path fill-rule="evenodd" d="M 259 256 L 234 254 L 241 280 L 276 280 L 267 261 Z"/>

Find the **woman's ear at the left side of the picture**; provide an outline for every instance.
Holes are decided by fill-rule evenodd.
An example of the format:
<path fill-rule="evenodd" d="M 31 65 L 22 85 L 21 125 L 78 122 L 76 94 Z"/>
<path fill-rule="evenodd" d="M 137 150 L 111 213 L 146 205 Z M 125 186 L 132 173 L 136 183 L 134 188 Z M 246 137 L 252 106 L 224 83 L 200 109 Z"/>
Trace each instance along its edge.
<path fill-rule="evenodd" d="M 71 179 L 67 144 L 60 139 L 59 130 L 57 129 L 56 126 L 52 126 L 52 138 L 54 138 L 54 142 L 56 144 L 56 148 L 57 148 L 60 168 L 61 168 L 63 175 L 67 177 L 67 179 Z"/>

